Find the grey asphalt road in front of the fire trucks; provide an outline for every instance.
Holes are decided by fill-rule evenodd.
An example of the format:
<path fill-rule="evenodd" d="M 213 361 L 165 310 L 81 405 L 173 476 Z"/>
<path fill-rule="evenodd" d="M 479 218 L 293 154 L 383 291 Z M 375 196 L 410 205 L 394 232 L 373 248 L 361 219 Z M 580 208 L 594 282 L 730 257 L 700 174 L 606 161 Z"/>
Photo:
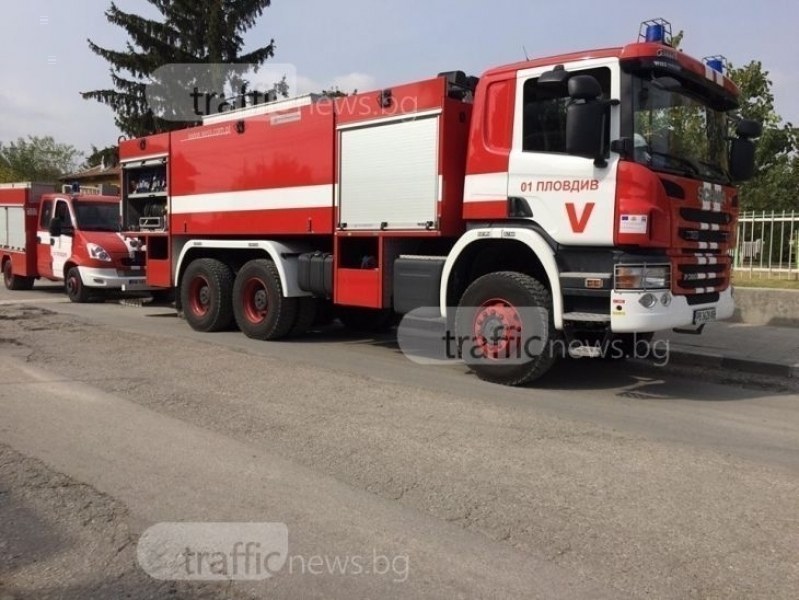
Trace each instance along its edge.
<path fill-rule="evenodd" d="M 503 388 L 391 337 L 203 335 L 47 287 L 0 291 L 0 377 L 2 600 L 799 589 L 799 398 L 773 381 L 567 361 Z M 285 523 L 295 567 L 368 572 L 156 581 L 137 542 L 173 521 Z"/>

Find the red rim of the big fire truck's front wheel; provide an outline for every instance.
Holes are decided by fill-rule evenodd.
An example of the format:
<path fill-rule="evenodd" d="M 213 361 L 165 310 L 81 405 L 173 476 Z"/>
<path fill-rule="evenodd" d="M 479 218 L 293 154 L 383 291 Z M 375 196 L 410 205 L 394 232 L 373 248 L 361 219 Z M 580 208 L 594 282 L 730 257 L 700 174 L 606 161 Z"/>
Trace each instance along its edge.
<path fill-rule="evenodd" d="M 474 315 L 472 336 L 484 358 L 516 357 L 522 350 L 521 315 L 513 304 L 502 298 L 483 302 Z"/>

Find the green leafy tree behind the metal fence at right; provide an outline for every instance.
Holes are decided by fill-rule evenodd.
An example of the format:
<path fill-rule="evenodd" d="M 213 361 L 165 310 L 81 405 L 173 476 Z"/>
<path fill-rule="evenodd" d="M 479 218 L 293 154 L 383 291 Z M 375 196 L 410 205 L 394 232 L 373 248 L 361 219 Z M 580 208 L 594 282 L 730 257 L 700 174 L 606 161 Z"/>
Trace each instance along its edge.
<path fill-rule="evenodd" d="M 755 177 L 741 187 L 742 207 L 799 209 L 799 130 L 777 114 L 768 71 L 760 61 L 752 61 L 731 67 L 729 77 L 741 89 L 741 116 L 763 123 L 763 135 L 757 140 Z"/>

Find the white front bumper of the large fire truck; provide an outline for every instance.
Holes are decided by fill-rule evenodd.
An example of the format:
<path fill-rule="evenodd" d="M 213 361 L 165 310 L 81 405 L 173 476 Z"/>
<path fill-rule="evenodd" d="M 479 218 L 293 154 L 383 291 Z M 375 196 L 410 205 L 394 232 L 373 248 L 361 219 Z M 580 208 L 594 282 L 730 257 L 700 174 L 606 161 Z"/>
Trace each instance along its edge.
<path fill-rule="evenodd" d="M 641 300 L 647 293 L 652 294 L 657 303 L 646 308 Z M 735 312 L 732 287 L 721 292 L 717 302 L 690 305 L 685 296 L 671 295 L 671 302 L 664 304 L 662 299 L 667 290 L 652 292 L 613 291 L 610 297 L 610 326 L 615 333 L 634 333 L 663 331 L 675 327 L 691 327 L 699 320 L 708 318 L 706 309 L 715 309 L 715 317 L 710 320 L 729 319 Z"/>

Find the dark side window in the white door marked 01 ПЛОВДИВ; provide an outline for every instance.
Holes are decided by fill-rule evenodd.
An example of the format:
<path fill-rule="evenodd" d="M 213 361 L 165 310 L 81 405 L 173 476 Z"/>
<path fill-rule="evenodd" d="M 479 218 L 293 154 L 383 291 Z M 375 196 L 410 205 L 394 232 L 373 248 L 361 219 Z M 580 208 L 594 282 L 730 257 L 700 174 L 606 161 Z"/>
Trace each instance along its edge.
<path fill-rule="evenodd" d="M 603 99 L 610 98 L 610 69 L 600 67 L 576 71 L 593 75 L 602 88 Z M 566 152 L 566 108 L 570 98 L 566 85 L 539 85 L 538 79 L 524 84 L 522 150 L 525 152 Z M 610 119 L 605 123 L 605 140 L 609 139 Z"/>

